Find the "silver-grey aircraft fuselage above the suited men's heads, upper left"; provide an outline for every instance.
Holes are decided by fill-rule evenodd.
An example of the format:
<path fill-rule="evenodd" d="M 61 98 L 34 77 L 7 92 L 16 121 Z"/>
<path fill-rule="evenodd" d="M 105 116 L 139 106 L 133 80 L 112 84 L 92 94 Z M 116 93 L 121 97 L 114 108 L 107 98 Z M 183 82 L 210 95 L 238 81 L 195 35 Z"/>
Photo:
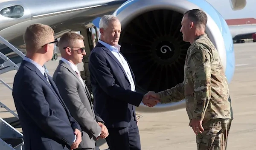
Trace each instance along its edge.
<path fill-rule="evenodd" d="M 23 45 L 26 27 L 51 26 L 55 33 L 79 31 L 95 17 L 111 14 L 126 0 L 5 0 L 0 3 L 0 35 L 15 46 Z"/>

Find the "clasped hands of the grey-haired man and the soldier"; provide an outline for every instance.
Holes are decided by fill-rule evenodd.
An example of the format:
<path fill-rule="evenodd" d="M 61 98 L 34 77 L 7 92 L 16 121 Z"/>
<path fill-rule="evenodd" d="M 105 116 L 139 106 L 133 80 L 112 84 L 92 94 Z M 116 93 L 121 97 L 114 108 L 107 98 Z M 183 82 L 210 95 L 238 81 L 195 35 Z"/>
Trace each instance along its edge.
<path fill-rule="evenodd" d="M 153 91 L 149 91 L 143 96 L 142 102 L 148 107 L 154 107 L 158 102 L 160 102 L 160 96 Z"/>

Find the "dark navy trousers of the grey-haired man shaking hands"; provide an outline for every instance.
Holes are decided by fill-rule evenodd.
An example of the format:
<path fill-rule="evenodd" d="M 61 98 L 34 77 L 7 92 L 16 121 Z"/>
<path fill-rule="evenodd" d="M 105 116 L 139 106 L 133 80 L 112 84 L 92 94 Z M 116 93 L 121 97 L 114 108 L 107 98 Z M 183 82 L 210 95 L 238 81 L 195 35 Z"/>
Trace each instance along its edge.
<path fill-rule="evenodd" d="M 110 150 L 141 150 L 140 133 L 135 120 L 130 127 L 108 128 L 106 142 Z"/>

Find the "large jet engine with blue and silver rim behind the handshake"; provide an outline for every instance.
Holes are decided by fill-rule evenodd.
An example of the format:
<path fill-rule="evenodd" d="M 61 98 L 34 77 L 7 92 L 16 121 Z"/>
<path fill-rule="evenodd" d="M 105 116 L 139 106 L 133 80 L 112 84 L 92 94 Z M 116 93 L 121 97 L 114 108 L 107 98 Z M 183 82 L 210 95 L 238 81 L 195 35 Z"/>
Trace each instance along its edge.
<path fill-rule="evenodd" d="M 137 92 L 163 91 L 183 82 L 184 63 L 189 42 L 180 32 L 183 13 L 191 9 L 207 13 L 206 33 L 217 48 L 228 82 L 235 69 L 233 40 L 226 21 L 205 0 L 128 0 L 114 13 L 122 25 L 121 52 L 136 78 Z M 184 108 L 185 102 L 141 104 L 143 112 Z"/>

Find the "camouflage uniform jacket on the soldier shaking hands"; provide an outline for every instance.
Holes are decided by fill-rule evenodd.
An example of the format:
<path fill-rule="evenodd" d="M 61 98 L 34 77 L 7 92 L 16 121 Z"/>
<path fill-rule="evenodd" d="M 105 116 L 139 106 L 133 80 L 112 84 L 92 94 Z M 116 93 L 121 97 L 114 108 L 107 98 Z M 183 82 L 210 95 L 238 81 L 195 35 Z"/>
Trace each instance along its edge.
<path fill-rule="evenodd" d="M 202 34 L 190 45 L 184 81 L 159 92 L 161 103 L 186 99 L 189 120 L 233 119 L 227 79 L 215 46 Z"/>

